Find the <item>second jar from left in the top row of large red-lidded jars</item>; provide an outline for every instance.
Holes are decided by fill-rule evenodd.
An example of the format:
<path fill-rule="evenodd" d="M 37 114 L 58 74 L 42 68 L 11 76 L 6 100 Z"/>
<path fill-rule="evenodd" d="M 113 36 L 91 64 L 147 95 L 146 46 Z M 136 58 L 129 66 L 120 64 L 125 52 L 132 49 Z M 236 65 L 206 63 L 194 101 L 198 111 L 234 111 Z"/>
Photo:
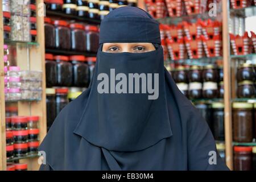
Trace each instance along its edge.
<path fill-rule="evenodd" d="M 69 50 L 71 48 L 71 31 L 68 22 L 54 20 L 55 25 L 55 48 Z"/>

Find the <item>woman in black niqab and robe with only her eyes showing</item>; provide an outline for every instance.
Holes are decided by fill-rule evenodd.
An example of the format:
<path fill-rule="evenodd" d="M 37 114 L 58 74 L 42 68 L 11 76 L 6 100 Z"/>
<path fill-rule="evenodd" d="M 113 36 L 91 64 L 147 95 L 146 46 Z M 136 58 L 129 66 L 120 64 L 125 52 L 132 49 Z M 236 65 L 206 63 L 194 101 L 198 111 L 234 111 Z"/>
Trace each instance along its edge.
<path fill-rule="evenodd" d="M 207 122 L 164 68 L 159 24 L 137 7 L 102 20 L 93 81 L 39 150 L 41 170 L 228 169 Z"/>

